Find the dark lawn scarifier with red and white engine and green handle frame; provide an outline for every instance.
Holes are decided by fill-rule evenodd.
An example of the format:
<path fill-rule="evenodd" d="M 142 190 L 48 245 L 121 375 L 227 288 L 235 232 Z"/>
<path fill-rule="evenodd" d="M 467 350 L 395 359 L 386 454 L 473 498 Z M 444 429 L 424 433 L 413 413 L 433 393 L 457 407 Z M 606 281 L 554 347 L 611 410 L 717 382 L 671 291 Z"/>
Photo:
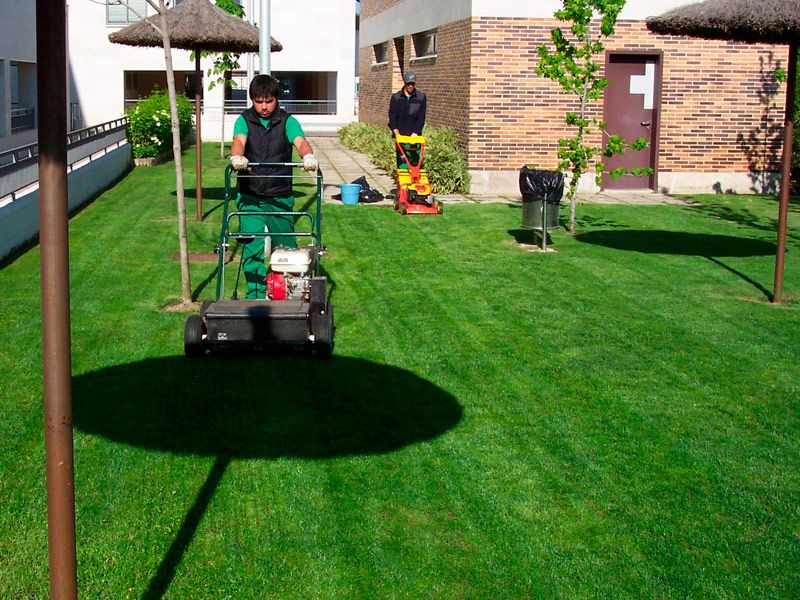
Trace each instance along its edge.
<path fill-rule="evenodd" d="M 292 166 L 301 163 L 251 163 L 252 166 Z M 333 352 L 333 304 L 327 297 L 328 279 L 322 275 L 320 258 L 326 248 L 322 245 L 322 171 L 316 179 L 316 214 L 308 211 L 282 213 L 297 221 L 307 221 L 308 228 L 292 233 L 269 231 L 231 231 L 231 220 L 245 214 L 229 211 L 232 167 L 225 169 L 225 201 L 218 253 L 216 299 L 204 302 L 199 315 L 190 315 L 184 327 L 184 353 L 189 357 L 205 354 L 207 350 L 239 348 L 245 350 L 269 347 L 295 347 L 311 350 L 315 356 L 329 358 Z M 238 177 L 239 175 L 237 175 Z M 247 175 L 255 177 L 255 175 Z M 309 177 L 291 175 L 292 178 Z M 253 213 L 247 213 L 252 215 Z M 267 214 L 267 213 L 262 213 Z M 304 247 L 287 248 L 273 244 L 281 237 L 308 238 Z M 259 300 L 238 299 L 239 272 L 231 299 L 223 298 L 225 289 L 225 253 L 233 238 L 240 244 L 263 239 L 264 256 L 268 261 L 267 297 Z"/>

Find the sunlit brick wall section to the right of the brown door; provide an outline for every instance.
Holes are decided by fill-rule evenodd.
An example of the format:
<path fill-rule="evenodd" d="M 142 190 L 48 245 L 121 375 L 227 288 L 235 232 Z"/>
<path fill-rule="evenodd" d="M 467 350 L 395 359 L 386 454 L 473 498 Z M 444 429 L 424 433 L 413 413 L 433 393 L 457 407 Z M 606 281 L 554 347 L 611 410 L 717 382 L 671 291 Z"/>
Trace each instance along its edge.
<path fill-rule="evenodd" d="M 621 22 L 609 49 L 663 50 L 660 171 L 777 170 L 785 87 L 768 81 L 783 46 L 656 36 L 640 22 Z M 770 130 L 772 133 L 770 134 Z M 758 139 L 765 160 L 752 165 L 745 142 Z"/>

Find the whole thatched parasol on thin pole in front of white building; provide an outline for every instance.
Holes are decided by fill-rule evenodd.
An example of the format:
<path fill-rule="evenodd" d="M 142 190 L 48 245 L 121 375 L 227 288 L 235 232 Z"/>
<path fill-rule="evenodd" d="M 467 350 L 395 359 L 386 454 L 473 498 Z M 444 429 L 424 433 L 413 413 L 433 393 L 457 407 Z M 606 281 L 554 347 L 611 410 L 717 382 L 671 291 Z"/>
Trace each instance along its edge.
<path fill-rule="evenodd" d="M 109 34 L 108 39 L 115 44 L 128 46 L 162 46 L 159 15 L 152 15 L 143 21 Z M 195 53 L 195 121 L 197 129 L 197 220 L 203 216 L 202 192 L 202 153 L 200 149 L 200 90 L 203 72 L 200 69 L 200 51 L 209 52 L 258 52 L 258 28 L 239 17 L 235 17 L 209 0 L 183 0 L 177 6 L 167 9 L 167 29 L 170 45 Z M 270 50 L 283 49 L 280 42 L 270 38 Z M 223 107 L 224 110 L 224 107 Z"/>

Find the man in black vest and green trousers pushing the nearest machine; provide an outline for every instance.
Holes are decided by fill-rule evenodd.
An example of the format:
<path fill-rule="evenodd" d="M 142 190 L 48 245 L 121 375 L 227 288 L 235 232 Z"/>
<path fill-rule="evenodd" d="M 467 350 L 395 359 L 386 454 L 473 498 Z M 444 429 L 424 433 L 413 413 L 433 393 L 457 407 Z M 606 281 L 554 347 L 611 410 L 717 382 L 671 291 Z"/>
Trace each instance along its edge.
<path fill-rule="evenodd" d="M 241 177 L 238 180 L 238 210 L 253 213 L 241 215 L 243 231 L 293 232 L 294 217 L 281 214 L 294 210 L 292 167 L 285 163 L 292 161 L 292 149 L 296 148 L 302 158 L 303 170 L 316 171 L 319 167 L 300 123 L 279 106 L 280 93 L 277 79 L 256 75 L 249 89 L 252 106 L 236 119 L 233 126 L 231 167 L 237 171 L 249 170 L 253 175 L 268 176 Z M 279 165 L 249 167 L 250 163 Z M 263 214 L 265 212 L 270 214 Z M 277 239 L 285 246 L 297 246 L 292 236 Z M 242 249 L 242 270 L 249 299 L 266 296 L 264 244 L 264 239 L 255 238 Z"/>

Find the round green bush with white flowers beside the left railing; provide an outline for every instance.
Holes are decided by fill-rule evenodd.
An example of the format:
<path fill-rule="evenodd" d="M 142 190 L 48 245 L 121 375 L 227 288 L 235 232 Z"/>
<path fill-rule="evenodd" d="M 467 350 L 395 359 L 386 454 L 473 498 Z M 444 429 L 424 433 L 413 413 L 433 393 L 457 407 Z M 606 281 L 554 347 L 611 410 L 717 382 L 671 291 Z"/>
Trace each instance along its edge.
<path fill-rule="evenodd" d="M 192 104 L 178 94 L 178 122 L 181 139 L 192 128 Z M 128 139 L 135 158 L 158 156 L 172 147 L 169 96 L 163 90 L 155 90 L 147 98 L 139 100 L 125 111 L 128 116 Z"/>

